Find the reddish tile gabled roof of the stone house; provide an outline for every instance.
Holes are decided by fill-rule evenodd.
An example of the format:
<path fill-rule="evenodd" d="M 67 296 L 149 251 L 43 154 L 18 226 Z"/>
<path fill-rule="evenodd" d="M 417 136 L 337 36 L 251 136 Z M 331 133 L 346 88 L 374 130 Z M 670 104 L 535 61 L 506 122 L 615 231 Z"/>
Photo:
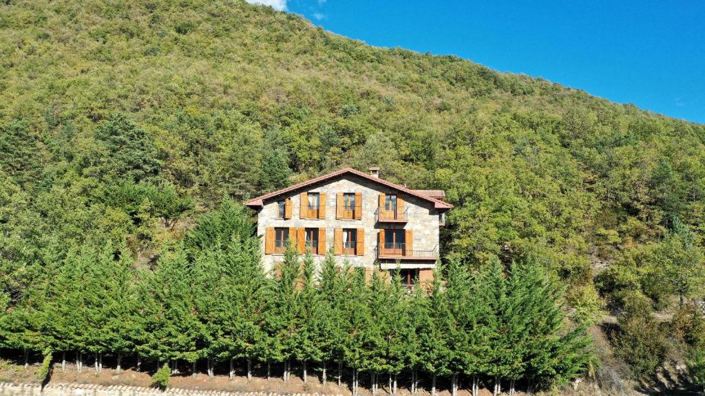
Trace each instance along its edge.
<path fill-rule="evenodd" d="M 372 175 L 357 171 L 353 168 L 343 168 L 343 169 L 335 171 L 335 172 L 326 173 L 325 175 L 321 175 L 317 178 L 312 178 L 312 179 L 306 180 L 305 182 L 300 182 L 295 185 L 290 185 L 289 187 L 283 188 L 281 190 L 269 192 L 269 194 L 260 195 L 259 197 L 252 198 L 249 201 L 245 202 L 245 206 L 250 206 L 251 208 L 261 207 L 262 205 L 264 205 L 265 199 L 271 199 L 271 198 L 277 197 L 278 195 L 284 194 L 286 192 L 292 192 L 292 191 L 298 190 L 302 187 L 306 187 L 307 185 L 312 185 L 317 182 L 322 182 L 325 180 L 329 180 L 331 178 L 336 178 L 337 176 L 345 175 L 346 173 L 351 173 L 353 175 L 360 176 L 360 178 L 364 178 L 369 181 L 379 183 L 380 185 L 384 185 L 386 187 L 391 187 L 394 190 L 398 190 L 400 192 L 405 192 L 406 194 L 410 194 L 414 197 L 418 197 L 418 198 L 424 199 L 426 201 L 433 202 L 434 208 L 436 208 L 436 209 L 448 210 L 448 209 L 453 208 L 453 205 L 448 204 L 448 202 L 443 202 L 443 201 L 441 201 L 441 199 L 436 198 L 436 197 L 439 197 L 441 194 L 443 197 L 446 196 L 446 193 L 443 192 L 442 190 L 410 190 L 409 188 L 404 187 L 403 185 L 398 185 L 396 183 L 389 182 L 389 181 L 381 179 L 381 178 L 376 178 Z M 435 192 L 436 194 L 431 195 L 429 192 Z M 439 192 L 441 194 L 438 194 Z"/>

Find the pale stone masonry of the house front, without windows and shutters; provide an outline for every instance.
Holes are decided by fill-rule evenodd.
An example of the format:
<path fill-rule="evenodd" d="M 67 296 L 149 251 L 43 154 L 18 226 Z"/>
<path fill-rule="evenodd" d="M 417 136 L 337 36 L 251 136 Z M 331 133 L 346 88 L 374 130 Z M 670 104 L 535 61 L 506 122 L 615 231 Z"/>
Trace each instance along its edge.
<path fill-rule="evenodd" d="M 302 192 L 325 192 L 325 218 L 309 219 L 300 218 L 300 197 Z M 347 220 L 336 218 L 336 195 L 338 193 L 361 193 L 362 194 L 362 218 L 360 220 Z M 376 211 L 379 207 L 380 194 L 396 194 L 405 202 L 407 210 L 406 223 L 387 223 L 377 221 Z M 277 218 L 278 204 L 282 199 L 291 200 L 291 217 L 288 219 Z M 357 203 L 356 203 L 357 204 Z M 403 258 L 397 263 L 396 259 L 378 259 L 377 248 L 379 232 L 384 229 L 403 229 L 413 231 L 413 249 L 415 251 L 431 252 L 437 258 L 439 254 L 439 227 L 441 220 L 441 209 L 435 209 L 434 202 L 416 197 L 388 187 L 379 182 L 362 178 L 360 176 L 346 173 L 330 180 L 324 180 L 317 184 L 305 185 L 298 190 L 293 190 L 280 194 L 271 199 L 264 199 L 262 208 L 258 213 L 257 235 L 262 237 L 262 257 L 266 270 L 274 268 L 276 262 L 281 261 L 282 254 L 265 254 L 265 238 L 267 228 L 326 228 L 326 250 L 331 249 L 334 244 L 333 233 L 336 228 L 363 228 L 364 229 L 364 254 L 363 255 L 340 255 L 336 256 L 338 261 L 347 260 L 356 267 L 380 269 L 419 268 L 431 270 L 435 266 L 433 259 L 409 259 Z M 383 231 L 384 232 L 384 231 Z M 314 256 L 314 261 L 320 264 L 324 259 L 325 252 Z M 431 271 L 422 271 L 428 272 Z M 428 274 L 424 276 L 428 277 Z"/>

